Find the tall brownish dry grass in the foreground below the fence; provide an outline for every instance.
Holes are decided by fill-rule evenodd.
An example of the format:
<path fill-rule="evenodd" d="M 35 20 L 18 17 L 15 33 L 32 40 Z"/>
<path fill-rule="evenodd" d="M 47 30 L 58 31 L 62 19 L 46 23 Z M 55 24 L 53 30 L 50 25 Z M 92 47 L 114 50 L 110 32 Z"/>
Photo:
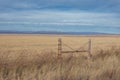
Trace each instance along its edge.
<path fill-rule="evenodd" d="M 120 80 L 119 48 L 98 50 L 90 59 L 82 54 L 58 59 L 53 51 L 23 50 L 17 56 L 0 51 L 0 80 Z"/>

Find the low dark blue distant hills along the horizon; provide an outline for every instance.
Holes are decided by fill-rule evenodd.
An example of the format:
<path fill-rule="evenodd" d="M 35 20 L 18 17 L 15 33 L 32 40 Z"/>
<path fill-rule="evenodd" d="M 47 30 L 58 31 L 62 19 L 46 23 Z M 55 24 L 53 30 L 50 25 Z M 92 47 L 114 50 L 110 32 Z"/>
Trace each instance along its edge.
<path fill-rule="evenodd" d="M 99 32 L 57 32 L 57 31 L 0 31 L 0 34 L 67 34 L 67 35 L 98 35 Z"/>

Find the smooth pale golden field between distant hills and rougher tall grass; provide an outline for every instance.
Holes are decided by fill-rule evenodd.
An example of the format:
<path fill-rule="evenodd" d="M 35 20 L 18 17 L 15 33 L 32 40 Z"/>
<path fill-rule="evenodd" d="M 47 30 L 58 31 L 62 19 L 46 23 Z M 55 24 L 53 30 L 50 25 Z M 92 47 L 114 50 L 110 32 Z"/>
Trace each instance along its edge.
<path fill-rule="evenodd" d="M 69 46 L 78 48 L 89 39 L 92 40 L 92 49 L 106 49 L 111 46 L 120 46 L 119 35 L 94 35 L 94 36 L 70 36 L 70 35 L 0 35 L 0 48 L 10 50 L 45 50 L 57 49 L 58 38 Z"/>

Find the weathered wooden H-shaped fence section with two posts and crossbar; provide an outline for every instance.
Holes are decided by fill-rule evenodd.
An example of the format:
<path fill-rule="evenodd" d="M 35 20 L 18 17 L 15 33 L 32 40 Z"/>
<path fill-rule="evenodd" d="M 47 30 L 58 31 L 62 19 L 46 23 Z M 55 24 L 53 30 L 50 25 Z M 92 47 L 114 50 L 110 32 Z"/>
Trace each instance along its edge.
<path fill-rule="evenodd" d="M 70 48 L 71 50 L 63 50 L 63 42 L 62 39 L 59 38 L 58 39 L 58 57 L 61 58 L 62 54 L 64 53 L 81 53 L 81 52 L 87 52 L 89 54 L 89 57 L 92 56 L 91 54 L 91 39 L 89 39 L 89 41 L 87 42 L 88 48 L 87 50 L 80 50 L 80 49 L 73 49 L 72 47 L 68 46 L 67 44 L 64 44 L 64 46 L 67 46 L 68 48 Z"/>

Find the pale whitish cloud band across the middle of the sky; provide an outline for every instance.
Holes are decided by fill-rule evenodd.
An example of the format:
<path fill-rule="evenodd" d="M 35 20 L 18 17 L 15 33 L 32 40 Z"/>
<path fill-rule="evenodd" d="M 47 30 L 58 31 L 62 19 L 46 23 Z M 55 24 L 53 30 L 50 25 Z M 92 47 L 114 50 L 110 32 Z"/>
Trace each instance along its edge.
<path fill-rule="evenodd" d="M 0 24 L 33 25 L 96 25 L 120 27 L 120 17 L 115 13 L 77 11 L 19 11 L 2 13 Z"/>

